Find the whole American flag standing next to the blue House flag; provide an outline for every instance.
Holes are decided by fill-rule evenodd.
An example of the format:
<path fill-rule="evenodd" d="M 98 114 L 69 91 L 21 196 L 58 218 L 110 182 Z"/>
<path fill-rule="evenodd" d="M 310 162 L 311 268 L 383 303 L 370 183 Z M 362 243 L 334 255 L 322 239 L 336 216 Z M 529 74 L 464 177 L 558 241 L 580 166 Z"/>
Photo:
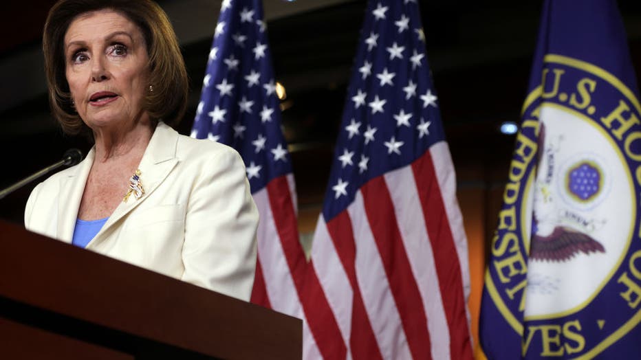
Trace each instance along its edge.
<path fill-rule="evenodd" d="M 467 243 L 416 1 L 369 1 L 312 245 L 305 357 L 471 359 Z"/>

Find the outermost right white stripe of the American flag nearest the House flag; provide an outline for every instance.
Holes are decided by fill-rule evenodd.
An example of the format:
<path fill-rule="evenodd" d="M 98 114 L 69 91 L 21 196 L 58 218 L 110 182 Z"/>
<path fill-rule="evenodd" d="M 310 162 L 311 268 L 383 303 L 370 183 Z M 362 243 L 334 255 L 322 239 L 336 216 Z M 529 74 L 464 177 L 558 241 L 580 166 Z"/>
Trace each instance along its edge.
<path fill-rule="evenodd" d="M 465 303 L 468 303 L 470 297 L 470 267 L 468 263 L 468 239 L 465 235 L 465 228 L 463 226 L 463 215 L 459 209 L 459 202 L 456 198 L 456 173 L 452 164 L 452 157 L 450 156 L 450 149 L 446 142 L 438 142 L 430 148 L 432 155 L 432 162 L 434 170 L 441 188 L 443 196 L 443 203 L 447 213 L 448 221 L 450 222 L 450 229 L 452 231 L 452 238 L 456 247 L 456 253 L 459 257 L 459 265 L 461 267 L 461 277 L 463 281 L 463 292 L 465 294 Z M 465 306 L 466 315 L 468 318 L 468 329 L 470 323 L 470 311 L 468 306 Z M 470 339 L 472 336 L 470 335 Z"/>

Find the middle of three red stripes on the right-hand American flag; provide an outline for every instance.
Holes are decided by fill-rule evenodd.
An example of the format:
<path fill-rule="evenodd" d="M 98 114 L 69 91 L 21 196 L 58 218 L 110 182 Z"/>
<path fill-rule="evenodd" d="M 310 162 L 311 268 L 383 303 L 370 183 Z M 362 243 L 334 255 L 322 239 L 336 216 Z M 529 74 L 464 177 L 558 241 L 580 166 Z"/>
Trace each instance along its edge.
<path fill-rule="evenodd" d="M 403 246 L 387 185 L 383 177 L 376 177 L 363 185 L 360 191 L 412 357 L 431 359 L 422 297 Z"/>

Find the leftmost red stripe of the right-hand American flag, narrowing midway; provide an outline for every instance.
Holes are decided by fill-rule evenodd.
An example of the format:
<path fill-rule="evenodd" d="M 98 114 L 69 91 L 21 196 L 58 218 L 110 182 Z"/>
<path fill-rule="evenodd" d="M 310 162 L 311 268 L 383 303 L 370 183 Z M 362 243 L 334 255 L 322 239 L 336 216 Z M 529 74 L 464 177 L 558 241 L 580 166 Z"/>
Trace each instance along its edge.
<path fill-rule="evenodd" d="M 351 333 L 349 335 L 351 356 L 353 359 L 382 359 L 356 281 L 356 243 L 347 211 L 341 212 L 327 223 L 327 232 L 332 238 L 338 258 L 343 263 L 349 284 L 354 291 L 354 297 L 351 300 Z"/>

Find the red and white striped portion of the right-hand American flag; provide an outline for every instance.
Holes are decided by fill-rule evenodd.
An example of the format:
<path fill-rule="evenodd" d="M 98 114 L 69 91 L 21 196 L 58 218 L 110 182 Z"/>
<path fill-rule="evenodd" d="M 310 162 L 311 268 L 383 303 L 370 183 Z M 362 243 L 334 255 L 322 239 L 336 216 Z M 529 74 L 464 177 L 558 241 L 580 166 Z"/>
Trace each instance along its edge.
<path fill-rule="evenodd" d="M 442 164 L 433 164 L 443 150 L 446 144 L 436 144 L 415 163 L 372 179 L 331 221 L 320 216 L 312 270 L 354 359 L 472 357 L 468 315 L 460 306 L 466 275 L 459 253 L 466 250 L 457 250 L 456 232 L 448 229 L 460 213 L 448 212 L 439 183 L 448 177 L 437 177 L 453 168 L 436 171 Z M 424 220 L 412 221 L 413 213 Z"/>

